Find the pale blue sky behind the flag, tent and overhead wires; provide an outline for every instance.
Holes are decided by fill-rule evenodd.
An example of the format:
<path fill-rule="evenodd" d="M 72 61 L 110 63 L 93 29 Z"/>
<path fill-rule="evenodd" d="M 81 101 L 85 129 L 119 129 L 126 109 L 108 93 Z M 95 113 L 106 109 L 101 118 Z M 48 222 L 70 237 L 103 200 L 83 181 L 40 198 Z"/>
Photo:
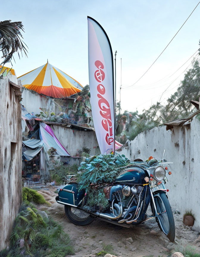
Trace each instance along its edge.
<path fill-rule="evenodd" d="M 198 0 L 191 1 L 10 1 L 4 5 L 1 21 L 22 21 L 28 58 L 15 54 L 17 76 L 49 62 L 79 81 L 89 84 L 87 56 L 87 15 L 96 19 L 110 38 L 117 53 L 117 93 L 120 86 L 132 85 L 152 64 L 186 20 Z M 130 90 L 122 89 L 123 109 L 140 112 L 160 99 L 162 92 L 190 61 L 171 75 L 199 48 L 200 4 L 170 46 L 143 79 Z M 9 65 L 7 65 L 9 66 Z M 168 77 L 166 77 L 168 78 Z M 180 76 L 169 90 L 178 85 Z M 152 84 L 152 85 L 151 85 Z M 156 88 L 155 88 L 156 87 Z M 162 103 L 176 88 L 163 95 Z M 119 94 L 117 94 L 119 99 Z M 143 102 L 145 104 L 143 104 Z"/>

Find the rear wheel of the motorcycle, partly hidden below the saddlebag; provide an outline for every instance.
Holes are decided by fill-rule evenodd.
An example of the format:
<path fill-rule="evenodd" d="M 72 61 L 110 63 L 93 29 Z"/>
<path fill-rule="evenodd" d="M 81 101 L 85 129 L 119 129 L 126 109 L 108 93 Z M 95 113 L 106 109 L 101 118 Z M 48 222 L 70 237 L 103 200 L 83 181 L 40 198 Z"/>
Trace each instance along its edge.
<path fill-rule="evenodd" d="M 95 217 L 88 214 L 86 211 L 76 209 L 69 205 L 65 205 L 65 214 L 68 217 L 68 220 L 79 226 L 88 225 L 95 219 Z"/>

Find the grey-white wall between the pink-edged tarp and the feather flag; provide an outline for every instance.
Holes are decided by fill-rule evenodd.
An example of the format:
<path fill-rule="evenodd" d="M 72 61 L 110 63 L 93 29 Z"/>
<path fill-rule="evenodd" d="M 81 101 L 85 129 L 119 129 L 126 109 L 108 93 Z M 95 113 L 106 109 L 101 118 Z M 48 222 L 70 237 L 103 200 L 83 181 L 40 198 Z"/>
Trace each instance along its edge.
<path fill-rule="evenodd" d="M 99 154 L 99 145 L 94 131 L 79 131 L 62 126 L 49 125 L 62 146 L 71 156 L 75 156 L 77 150 L 90 148 L 90 155 Z"/>

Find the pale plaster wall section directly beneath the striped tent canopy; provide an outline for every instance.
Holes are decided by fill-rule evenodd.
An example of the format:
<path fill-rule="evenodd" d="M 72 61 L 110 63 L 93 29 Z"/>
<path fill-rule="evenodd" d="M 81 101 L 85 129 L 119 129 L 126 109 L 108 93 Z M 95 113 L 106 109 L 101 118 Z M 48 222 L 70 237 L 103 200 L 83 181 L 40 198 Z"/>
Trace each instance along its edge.
<path fill-rule="evenodd" d="M 41 110 L 39 108 L 47 108 L 49 100 L 46 96 L 32 93 L 27 89 L 22 92 L 22 98 L 21 104 L 25 106 L 27 112 L 33 112 L 34 115 L 40 114 Z"/>

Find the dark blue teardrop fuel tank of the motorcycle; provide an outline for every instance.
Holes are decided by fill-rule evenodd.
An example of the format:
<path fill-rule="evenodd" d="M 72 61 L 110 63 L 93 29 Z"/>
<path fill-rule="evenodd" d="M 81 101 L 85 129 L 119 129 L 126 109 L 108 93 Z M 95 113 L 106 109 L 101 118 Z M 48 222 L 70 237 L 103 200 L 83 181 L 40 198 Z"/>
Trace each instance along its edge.
<path fill-rule="evenodd" d="M 144 178 L 149 177 L 148 173 L 139 167 L 130 167 L 123 170 L 115 179 L 115 184 L 146 184 Z"/>

